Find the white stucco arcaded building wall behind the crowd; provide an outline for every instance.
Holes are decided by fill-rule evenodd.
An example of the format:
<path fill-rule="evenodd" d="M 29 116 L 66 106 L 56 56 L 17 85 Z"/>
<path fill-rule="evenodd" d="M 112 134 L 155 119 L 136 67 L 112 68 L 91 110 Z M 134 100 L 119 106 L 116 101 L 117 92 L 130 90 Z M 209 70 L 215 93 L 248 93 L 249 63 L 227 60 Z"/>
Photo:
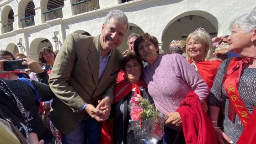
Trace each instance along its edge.
<path fill-rule="evenodd" d="M 215 28 L 218 35 L 223 35 L 229 34 L 229 23 L 235 17 L 241 14 L 248 14 L 256 6 L 256 0 L 229 0 L 228 2 L 226 0 L 133 0 L 123 4 L 119 4 L 120 1 L 118 0 L 99 0 L 99 10 L 72 16 L 72 6 L 65 5 L 63 18 L 44 22 L 44 17 L 40 12 L 45 11 L 43 10 L 46 7 L 45 1 L 33 1 L 36 7 L 36 25 L 26 28 L 18 27 L 17 17 L 22 17 L 18 13 L 18 7 L 21 5 L 19 2 L 27 2 L 27 0 L 0 1 L 0 10 L 6 5 L 10 5 L 15 15 L 14 31 L 0 34 L 0 49 L 6 49 L 9 43 L 18 43 L 19 38 L 22 38 L 23 46 L 26 50 L 25 53 L 36 57 L 37 48 L 31 47 L 35 47 L 36 44 L 31 43 L 40 37 L 47 38 L 52 43 L 54 49 L 55 44 L 52 40 L 54 32 L 58 33 L 59 47 L 62 46 L 65 37 L 75 31 L 83 30 L 89 32 L 92 36 L 96 36 L 101 32 L 101 25 L 105 20 L 107 12 L 112 9 L 119 9 L 125 12 L 129 23 L 139 27 L 141 31 L 149 32 L 157 37 L 160 43 L 163 42 L 164 46 L 166 43 L 169 44 L 166 35 L 168 33 L 172 35 L 169 31 L 173 28 L 170 28 L 170 26 L 180 26 L 178 24 L 172 25 L 179 18 L 188 15 L 202 16 L 212 23 L 209 29 Z M 64 0 L 64 3 L 71 4 L 72 1 Z M 0 16 L 2 15 L 0 12 Z M 2 19 L 0 20 L 0 23 L 4 22 Z M 182 27 L 185 26 L 183 23 Z M 198 23 L 198 26 L 200 26 L 200 23 Z M 196 26 L 190 27 L 190 25 L 187 25 L 187 29 L 182 29 L 181 35 L 185 35 L 186 32 L 188 35 L 189 32 L 195 29 L 194 27 Z M 131 32 L 128 32 L 128 34 Z M 119 47 L 121 51 L 127 48 L 126 43 L 127 36 Z M 31 50 L 29 50 L 30 48 Z"/>

